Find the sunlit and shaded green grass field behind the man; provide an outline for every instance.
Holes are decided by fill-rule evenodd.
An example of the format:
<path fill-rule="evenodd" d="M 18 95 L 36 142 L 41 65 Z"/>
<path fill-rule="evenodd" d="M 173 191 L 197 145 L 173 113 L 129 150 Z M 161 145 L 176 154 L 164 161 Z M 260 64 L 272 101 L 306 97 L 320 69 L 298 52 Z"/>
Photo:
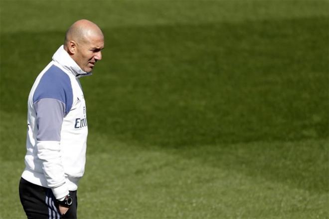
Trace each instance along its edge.
<path fill-rule="evenodd" d="M 23 219 L 26 102 L 67 27 L 81 83 L 80 219 L 328 219 L 329 1 L 0 0 L 0 219 Z"/>

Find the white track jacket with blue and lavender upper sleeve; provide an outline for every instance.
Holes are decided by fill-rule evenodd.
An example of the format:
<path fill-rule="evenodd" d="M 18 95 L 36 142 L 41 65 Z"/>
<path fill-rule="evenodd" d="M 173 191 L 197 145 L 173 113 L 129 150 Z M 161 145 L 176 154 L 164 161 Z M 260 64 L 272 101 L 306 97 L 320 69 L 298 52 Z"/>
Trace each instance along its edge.
<path fill-rule="evenodd" d="M 84 173 L 88 128 L 79 77 L 90 74 L 81 70 L 62 45 L 28 96 L 22 178 L 51 188 L 59 200 L 69 190 L 77 190 Z"/>

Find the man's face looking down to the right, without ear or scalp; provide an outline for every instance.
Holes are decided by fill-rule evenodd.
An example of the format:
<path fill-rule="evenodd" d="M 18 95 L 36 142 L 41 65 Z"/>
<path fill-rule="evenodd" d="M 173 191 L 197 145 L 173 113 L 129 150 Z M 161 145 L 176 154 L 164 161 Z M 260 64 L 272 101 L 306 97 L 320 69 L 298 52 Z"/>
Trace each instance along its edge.
<path fill-rule="evenodd" d="M 77 44 L 74 60 L 85 72 L 91 72 L 98 60 L 102 59 L 103 35 L 91 35 Z"/>

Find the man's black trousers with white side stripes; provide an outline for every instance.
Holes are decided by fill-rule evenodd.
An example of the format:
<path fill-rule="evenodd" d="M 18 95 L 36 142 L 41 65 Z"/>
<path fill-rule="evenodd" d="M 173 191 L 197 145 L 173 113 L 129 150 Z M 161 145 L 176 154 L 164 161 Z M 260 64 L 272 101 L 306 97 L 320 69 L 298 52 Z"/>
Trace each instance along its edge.
<path fill-rule="evenodd" d="M 23 178 L 19 182 L 19 198 L 27 219 L 76 219 L 76 191 L 70 191 L 70 196 L 73 203 L 69 210 L 61 215 L 51 189 L 32 184 Z"/>

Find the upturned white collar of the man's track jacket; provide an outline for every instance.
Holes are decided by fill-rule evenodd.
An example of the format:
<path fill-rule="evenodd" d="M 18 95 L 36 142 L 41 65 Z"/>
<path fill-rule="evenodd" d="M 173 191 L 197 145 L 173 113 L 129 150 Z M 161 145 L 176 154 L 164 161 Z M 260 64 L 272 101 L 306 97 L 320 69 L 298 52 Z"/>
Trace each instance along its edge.
<path fill-rule="evenodd" d="M 64 46 L 61 45 L 52 56 L 52 60 L 60 64 L 63 68 L 72 72 L 76 77 L 91 75 L 91 72 L 83 71 L 79 65 L 71 58 L 71 56 L 64 50 Z"/>

